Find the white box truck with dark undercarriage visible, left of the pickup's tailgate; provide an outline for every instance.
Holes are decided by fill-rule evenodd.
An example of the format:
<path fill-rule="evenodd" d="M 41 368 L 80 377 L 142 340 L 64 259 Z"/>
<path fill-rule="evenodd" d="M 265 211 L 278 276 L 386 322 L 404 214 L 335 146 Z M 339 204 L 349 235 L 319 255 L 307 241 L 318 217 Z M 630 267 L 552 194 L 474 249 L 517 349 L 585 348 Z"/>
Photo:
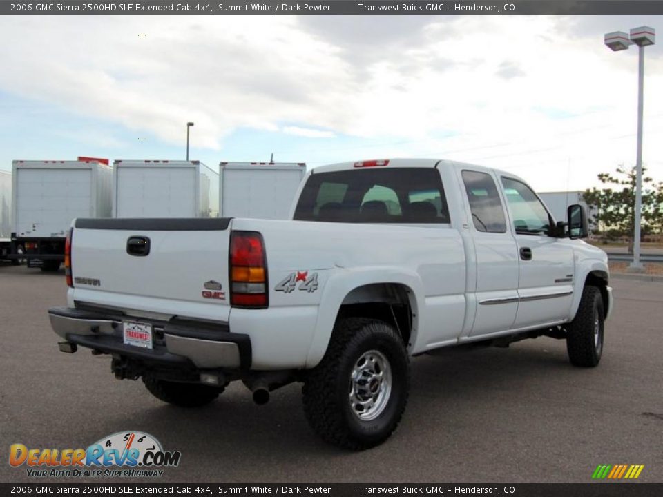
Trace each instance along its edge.
<path fill-rule="evenodd" d="M 12 162 L 12 258 L 57 271 L 76 217 L 111 216 L 111 166 L 105 159 Z M 24 251 L 21 254 L 21 251 Z"/>

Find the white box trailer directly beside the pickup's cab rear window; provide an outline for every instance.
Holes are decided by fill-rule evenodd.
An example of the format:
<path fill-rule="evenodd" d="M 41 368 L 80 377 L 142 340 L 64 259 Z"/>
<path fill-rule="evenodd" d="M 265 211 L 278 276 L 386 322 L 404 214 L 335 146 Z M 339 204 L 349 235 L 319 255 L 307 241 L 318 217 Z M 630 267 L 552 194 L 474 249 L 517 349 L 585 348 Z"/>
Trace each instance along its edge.
<path fill-rule="evenodd" d="M 286 220 L 306 173 L 303 162 L 221 162 L 220 217 Z"/>

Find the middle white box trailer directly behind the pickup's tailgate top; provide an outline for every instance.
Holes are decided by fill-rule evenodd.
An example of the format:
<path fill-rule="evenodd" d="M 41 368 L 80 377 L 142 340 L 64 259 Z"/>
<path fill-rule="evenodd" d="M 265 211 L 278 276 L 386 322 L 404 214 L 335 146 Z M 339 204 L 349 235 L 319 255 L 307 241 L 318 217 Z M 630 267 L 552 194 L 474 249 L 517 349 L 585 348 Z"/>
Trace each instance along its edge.
<path fill-rule="evenodd" d="M 218 217 L 219 175 L 202 162 L 113 164 L 113 217 Z"/>

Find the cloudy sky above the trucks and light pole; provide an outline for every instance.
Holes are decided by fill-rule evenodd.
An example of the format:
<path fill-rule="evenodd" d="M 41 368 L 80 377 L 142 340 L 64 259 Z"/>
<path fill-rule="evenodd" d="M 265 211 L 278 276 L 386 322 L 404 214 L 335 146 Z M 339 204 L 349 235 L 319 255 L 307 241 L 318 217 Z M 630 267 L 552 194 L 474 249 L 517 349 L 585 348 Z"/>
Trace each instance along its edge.
<path fill-rule="evenodd" d="M 637 50 L 663 17 L 3 17 L 12 159 L 330 162 L 439 157 L 580 189 L 635 162 Z M 644 162 L 663 180 L 663 43 Z"/>

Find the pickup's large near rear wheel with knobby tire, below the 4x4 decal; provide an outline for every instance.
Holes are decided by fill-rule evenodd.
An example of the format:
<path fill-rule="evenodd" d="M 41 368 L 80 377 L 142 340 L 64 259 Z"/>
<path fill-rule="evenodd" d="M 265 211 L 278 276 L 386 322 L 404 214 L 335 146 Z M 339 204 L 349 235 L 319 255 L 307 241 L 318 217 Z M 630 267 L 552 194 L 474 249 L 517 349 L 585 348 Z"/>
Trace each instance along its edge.
<path fill-rule="evenodd" d="M 336 324 L 325 357 L 309 372 L 304 410 L 325 442 L 369 449 L 394 432 L 409 391 L 410 362 L 394 328 L 348 318 Z"/>

